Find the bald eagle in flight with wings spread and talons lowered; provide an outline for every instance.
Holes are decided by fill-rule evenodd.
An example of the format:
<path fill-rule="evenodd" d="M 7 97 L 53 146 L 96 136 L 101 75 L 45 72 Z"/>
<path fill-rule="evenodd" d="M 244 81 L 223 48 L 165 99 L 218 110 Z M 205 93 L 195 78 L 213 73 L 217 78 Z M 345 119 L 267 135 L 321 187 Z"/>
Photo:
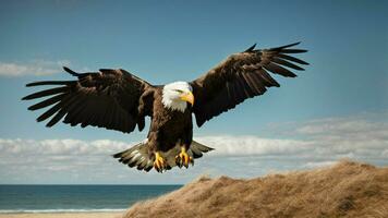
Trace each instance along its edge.
<path fill-rule="evenodd" d="M 291 48 L 296 45 L 299 43 L 270 49 L 255 49 L 254 45 L 229 56 L 192 82 L 166 85 L 151 85 L 122 69 L 76 73 L 63 68 L 76 80 L 29 83 L 26 86 L 56 87 L 34 93 L 23 100 L 47 97 L 28 109 L 51 106 L 37 118 L 38 122 L 50 119 L 46 124 L 49 128 L 63 119 L 72 126 L 93 125 L 131 133 L 136 125 L 142 131 L 148 116 L 147 138 L 113 157 L 145 171 L 155 168 L 162 172 L 174 166 L 187 168 L 194 158 L 213 149 L 193 141 L 192 114 L 202 126 L 245 99 L 263 95 L 268 87 L 279 87 L 270 73 L 295 77 L 291 70 L 303 71 L 300 65 L 308 64 L 290 56 L 306 52 Z"/>

